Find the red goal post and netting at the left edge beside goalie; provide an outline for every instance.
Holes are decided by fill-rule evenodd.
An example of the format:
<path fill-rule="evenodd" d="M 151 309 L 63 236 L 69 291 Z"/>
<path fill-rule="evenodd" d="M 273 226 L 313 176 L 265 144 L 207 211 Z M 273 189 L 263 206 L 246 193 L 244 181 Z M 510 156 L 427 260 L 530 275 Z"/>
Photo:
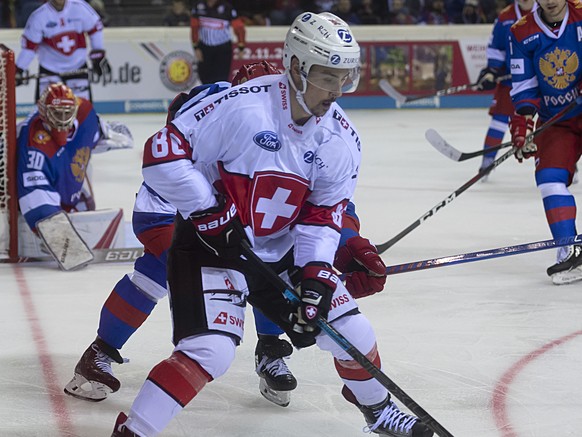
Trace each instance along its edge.
<path fill-rule="evenodd" d="M 14 52 L 0 44 L 0 258 L 18 254 Z"/>

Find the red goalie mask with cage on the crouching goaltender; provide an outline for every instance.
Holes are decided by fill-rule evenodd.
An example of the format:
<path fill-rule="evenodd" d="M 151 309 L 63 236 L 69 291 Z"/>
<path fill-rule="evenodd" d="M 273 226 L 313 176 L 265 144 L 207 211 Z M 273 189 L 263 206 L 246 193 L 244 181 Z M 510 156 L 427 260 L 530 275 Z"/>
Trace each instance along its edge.
<path fill-rule="evenodd" d="M 73 91 L 62 83 L 51 84 L 38 99 L 40 118 L 59 146 L 67 143 L 78 110 L 79 102 Z"/>

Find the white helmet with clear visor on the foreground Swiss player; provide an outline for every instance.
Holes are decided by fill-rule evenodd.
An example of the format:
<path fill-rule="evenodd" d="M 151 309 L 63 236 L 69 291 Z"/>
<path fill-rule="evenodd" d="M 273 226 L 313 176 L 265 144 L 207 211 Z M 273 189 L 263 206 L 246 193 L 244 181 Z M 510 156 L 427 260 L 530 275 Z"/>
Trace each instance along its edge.
<path fill-rule="evenodd" d="M 360 46 L 348 24 L 329 12 L 304 12 L 295 18 L 283 48 L 283 66 L 288 74 L 293 56 L 299 60 L 304 80 L 313 65 L 321 65 L 349 70 L 348 80 L 342 86 L 343 93 L 354 92 L 358 87 Z M 305 87 L 304 84 L 303 91 Z"/>

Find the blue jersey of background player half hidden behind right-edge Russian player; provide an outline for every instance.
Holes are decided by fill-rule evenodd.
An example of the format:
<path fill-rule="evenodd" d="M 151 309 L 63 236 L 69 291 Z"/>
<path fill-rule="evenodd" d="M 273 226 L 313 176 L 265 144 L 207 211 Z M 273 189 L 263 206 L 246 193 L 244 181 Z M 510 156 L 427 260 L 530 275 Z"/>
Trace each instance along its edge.
<path fill-rule="evenodd" d="M 537 3 L 534 3 L 533 10 L 536 7 Z M 509 56 L 507 56 L 509 32 L 511 26 L 521 17 L 521 9 L 516 1 L 512 5 L 506 6 L 493 23 L 493 31 L 487 45 L 487 66 L 499 69 L 502 76 L 510 70 Z M 506 79 L 502 83 L 511 86 L 511 79 Z"/>

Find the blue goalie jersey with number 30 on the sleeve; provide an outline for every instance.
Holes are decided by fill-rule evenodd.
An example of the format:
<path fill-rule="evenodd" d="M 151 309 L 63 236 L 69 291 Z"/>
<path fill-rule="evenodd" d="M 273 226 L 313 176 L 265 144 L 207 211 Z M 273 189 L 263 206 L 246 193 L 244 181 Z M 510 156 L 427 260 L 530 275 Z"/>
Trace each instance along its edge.
<path fill-rule="evenodd" d="M 101 138 L 99 118 L 88 100 L 79 111 L 67 144 L 59 147 L 38 112 L 18 135 L 17 185 L 20 211 L 31 229 L 60 210 L 71 211 L 81 200 L 91 151 Z"/>

